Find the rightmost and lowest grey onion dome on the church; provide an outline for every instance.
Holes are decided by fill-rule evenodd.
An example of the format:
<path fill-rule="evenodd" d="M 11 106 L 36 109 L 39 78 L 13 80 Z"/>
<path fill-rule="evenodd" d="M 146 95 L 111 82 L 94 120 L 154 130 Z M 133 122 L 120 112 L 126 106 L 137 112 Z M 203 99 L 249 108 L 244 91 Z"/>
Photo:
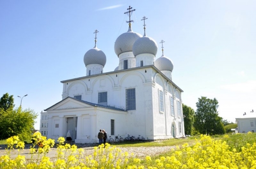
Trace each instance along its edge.
<path fill-rule="evenodd" d="M 169 70 L 172 72 L 173 70 L 173 63 L 172 60 L 169 59 L 168 57 L 162 55 L 160 58 L 158 58 L 155 63 L 155 67 L 162 71 L 162 70 Z"/>

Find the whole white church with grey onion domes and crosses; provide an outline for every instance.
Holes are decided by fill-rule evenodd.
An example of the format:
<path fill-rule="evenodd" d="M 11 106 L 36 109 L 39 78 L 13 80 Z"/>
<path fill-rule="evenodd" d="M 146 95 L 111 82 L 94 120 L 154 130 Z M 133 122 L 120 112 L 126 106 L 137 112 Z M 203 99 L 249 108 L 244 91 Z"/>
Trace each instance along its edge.
<path fill-rule="evenodd" d="M 40 131 L 47 138 L 66 137 L 76 143 L 98 142 L 98 132 L 122 138 L 138 135 L 149 140 L 185 135 L 180 89 L 172 82 L 172 60 L 163 54 L 155 60 L 157 43 L 129 28 L 115 42 L 119 65 L 103 72 L 106 56 L 96 46 L 84 54 L 86 76 L 61 81 L 62 100 L 41 113 Z"/>

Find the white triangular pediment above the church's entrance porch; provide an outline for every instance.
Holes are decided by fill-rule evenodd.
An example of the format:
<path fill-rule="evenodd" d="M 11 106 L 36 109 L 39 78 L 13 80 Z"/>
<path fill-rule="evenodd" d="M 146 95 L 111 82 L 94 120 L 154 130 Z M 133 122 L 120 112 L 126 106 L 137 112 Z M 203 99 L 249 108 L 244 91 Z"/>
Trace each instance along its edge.
<path fill-rule="evenodd" d="M 78 101 L 76 99 L 67 98 L 49 107 L 46 111 L 76 109 L 76 108 L 86 108 L 86 107 L 92 107 L 92 105 L 84 103 L 83 101 Z"/>

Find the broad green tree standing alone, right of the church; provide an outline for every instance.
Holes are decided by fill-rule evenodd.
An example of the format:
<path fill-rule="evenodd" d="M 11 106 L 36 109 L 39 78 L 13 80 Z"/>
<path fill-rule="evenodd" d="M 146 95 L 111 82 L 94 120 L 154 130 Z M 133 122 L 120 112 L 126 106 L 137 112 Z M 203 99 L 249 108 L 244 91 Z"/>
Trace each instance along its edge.
<path fill-rule="evenodd" d="M 196 103 L 197 110 L 195 112 L 195 129 L 201 134 L 224 134 L 224 126 L 222 118 L 218 116 L 217 99 L 207 99 L 201 96 Z"/>

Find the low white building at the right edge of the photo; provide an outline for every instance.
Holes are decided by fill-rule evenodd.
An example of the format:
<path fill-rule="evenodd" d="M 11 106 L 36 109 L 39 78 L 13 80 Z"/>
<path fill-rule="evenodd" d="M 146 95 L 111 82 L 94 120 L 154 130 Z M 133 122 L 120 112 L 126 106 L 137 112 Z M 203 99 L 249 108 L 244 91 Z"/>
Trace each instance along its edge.
<path fill-rule="evenodd" d="M 236 122 L 239 133 L 256 132 L 256 113 L 245 113 Z"/>

